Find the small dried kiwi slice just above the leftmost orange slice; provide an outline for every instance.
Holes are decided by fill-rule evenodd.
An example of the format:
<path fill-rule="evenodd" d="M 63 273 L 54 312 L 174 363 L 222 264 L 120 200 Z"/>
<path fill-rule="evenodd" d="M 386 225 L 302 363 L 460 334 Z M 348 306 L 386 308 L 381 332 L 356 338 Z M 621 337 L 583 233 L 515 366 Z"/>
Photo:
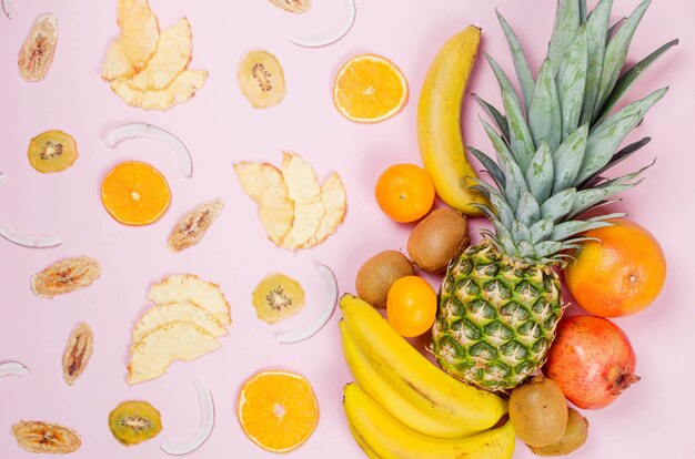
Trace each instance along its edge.
<path fill-rule="evenodd" d="M 47 131 L 29 142 L 29 163 L 42 174 L 60 172 L 78 159 L 78 144 L 62 131 Z"/>

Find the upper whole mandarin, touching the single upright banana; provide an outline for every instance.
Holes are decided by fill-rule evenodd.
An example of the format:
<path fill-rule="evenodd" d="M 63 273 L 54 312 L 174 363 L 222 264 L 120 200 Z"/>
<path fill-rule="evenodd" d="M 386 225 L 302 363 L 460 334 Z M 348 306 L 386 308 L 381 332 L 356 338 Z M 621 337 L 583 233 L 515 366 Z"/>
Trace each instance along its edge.
<path fill-rule="evenodd" d="M 395 164 L 381 174 L 374 195 L 382 212 L 395 222 L 415 222 L 434 204 L 434 182 L 422 167 Z"/>

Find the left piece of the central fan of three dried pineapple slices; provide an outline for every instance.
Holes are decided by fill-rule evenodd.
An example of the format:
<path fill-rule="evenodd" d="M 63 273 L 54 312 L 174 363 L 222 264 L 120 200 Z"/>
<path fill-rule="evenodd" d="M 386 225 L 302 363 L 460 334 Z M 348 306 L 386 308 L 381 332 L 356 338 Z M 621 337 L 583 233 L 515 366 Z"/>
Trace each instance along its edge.
<path fill-rule="evenodd" d="M 244 193 L 259 205 L 259 216 L 268 237 L 279 245 L 292 230 L 294 203 L 290 200 L 282 172 L 268 163 L 236 163 L 234 172 Z"/>

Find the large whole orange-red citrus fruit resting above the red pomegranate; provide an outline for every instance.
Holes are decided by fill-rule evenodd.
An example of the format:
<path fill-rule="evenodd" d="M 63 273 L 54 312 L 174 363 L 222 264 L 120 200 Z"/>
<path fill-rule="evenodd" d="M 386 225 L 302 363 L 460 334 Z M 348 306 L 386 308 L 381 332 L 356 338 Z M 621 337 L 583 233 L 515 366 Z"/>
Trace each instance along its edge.
<path fill-rule="evenodd" d="M 658 296 L 666 279 L 666 258 L 656 238 L 627 220 L 584 234 L 574 265 L 565 268 L 567 288 L 587 312 L 601 317 L 635 314 Z"/>

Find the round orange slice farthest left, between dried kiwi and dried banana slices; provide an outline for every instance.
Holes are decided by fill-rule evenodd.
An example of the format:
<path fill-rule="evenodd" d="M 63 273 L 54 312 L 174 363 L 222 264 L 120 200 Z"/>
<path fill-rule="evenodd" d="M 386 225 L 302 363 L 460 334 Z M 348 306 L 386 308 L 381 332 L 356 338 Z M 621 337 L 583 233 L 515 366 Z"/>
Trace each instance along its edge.
<path fill-rule="evenodd" d="M 169 207 L 171 192 L 164 176 L 149 164 L 127 161 L 113 167 L 101 183 L 101 202 L 124 225 L 157 222 Z"/>

